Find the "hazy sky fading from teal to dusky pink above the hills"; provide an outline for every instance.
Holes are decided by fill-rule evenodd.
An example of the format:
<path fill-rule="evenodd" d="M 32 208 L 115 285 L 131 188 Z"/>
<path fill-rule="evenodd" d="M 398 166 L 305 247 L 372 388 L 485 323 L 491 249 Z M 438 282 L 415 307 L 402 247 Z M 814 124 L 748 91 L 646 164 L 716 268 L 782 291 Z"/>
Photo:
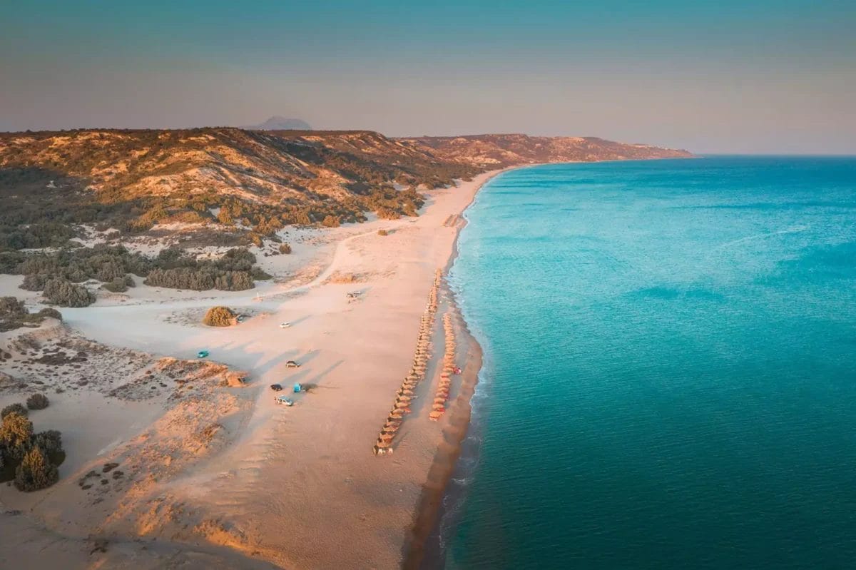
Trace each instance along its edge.
<path fill-rule="evenodd" d="M 244 125 L 856 154 L 856 1 L 0 0 L 0 131 Z"/>

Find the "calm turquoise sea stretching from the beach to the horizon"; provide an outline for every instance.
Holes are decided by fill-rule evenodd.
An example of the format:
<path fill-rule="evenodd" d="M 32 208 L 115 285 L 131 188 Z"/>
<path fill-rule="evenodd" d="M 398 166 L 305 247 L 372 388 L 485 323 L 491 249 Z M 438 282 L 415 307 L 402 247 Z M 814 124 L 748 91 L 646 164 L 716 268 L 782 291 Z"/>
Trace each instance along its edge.
<path fill-rule="evenodd" d="M 536 166 L 467 218 L 433 564 L 856 567 L 856 158 Z"/>

